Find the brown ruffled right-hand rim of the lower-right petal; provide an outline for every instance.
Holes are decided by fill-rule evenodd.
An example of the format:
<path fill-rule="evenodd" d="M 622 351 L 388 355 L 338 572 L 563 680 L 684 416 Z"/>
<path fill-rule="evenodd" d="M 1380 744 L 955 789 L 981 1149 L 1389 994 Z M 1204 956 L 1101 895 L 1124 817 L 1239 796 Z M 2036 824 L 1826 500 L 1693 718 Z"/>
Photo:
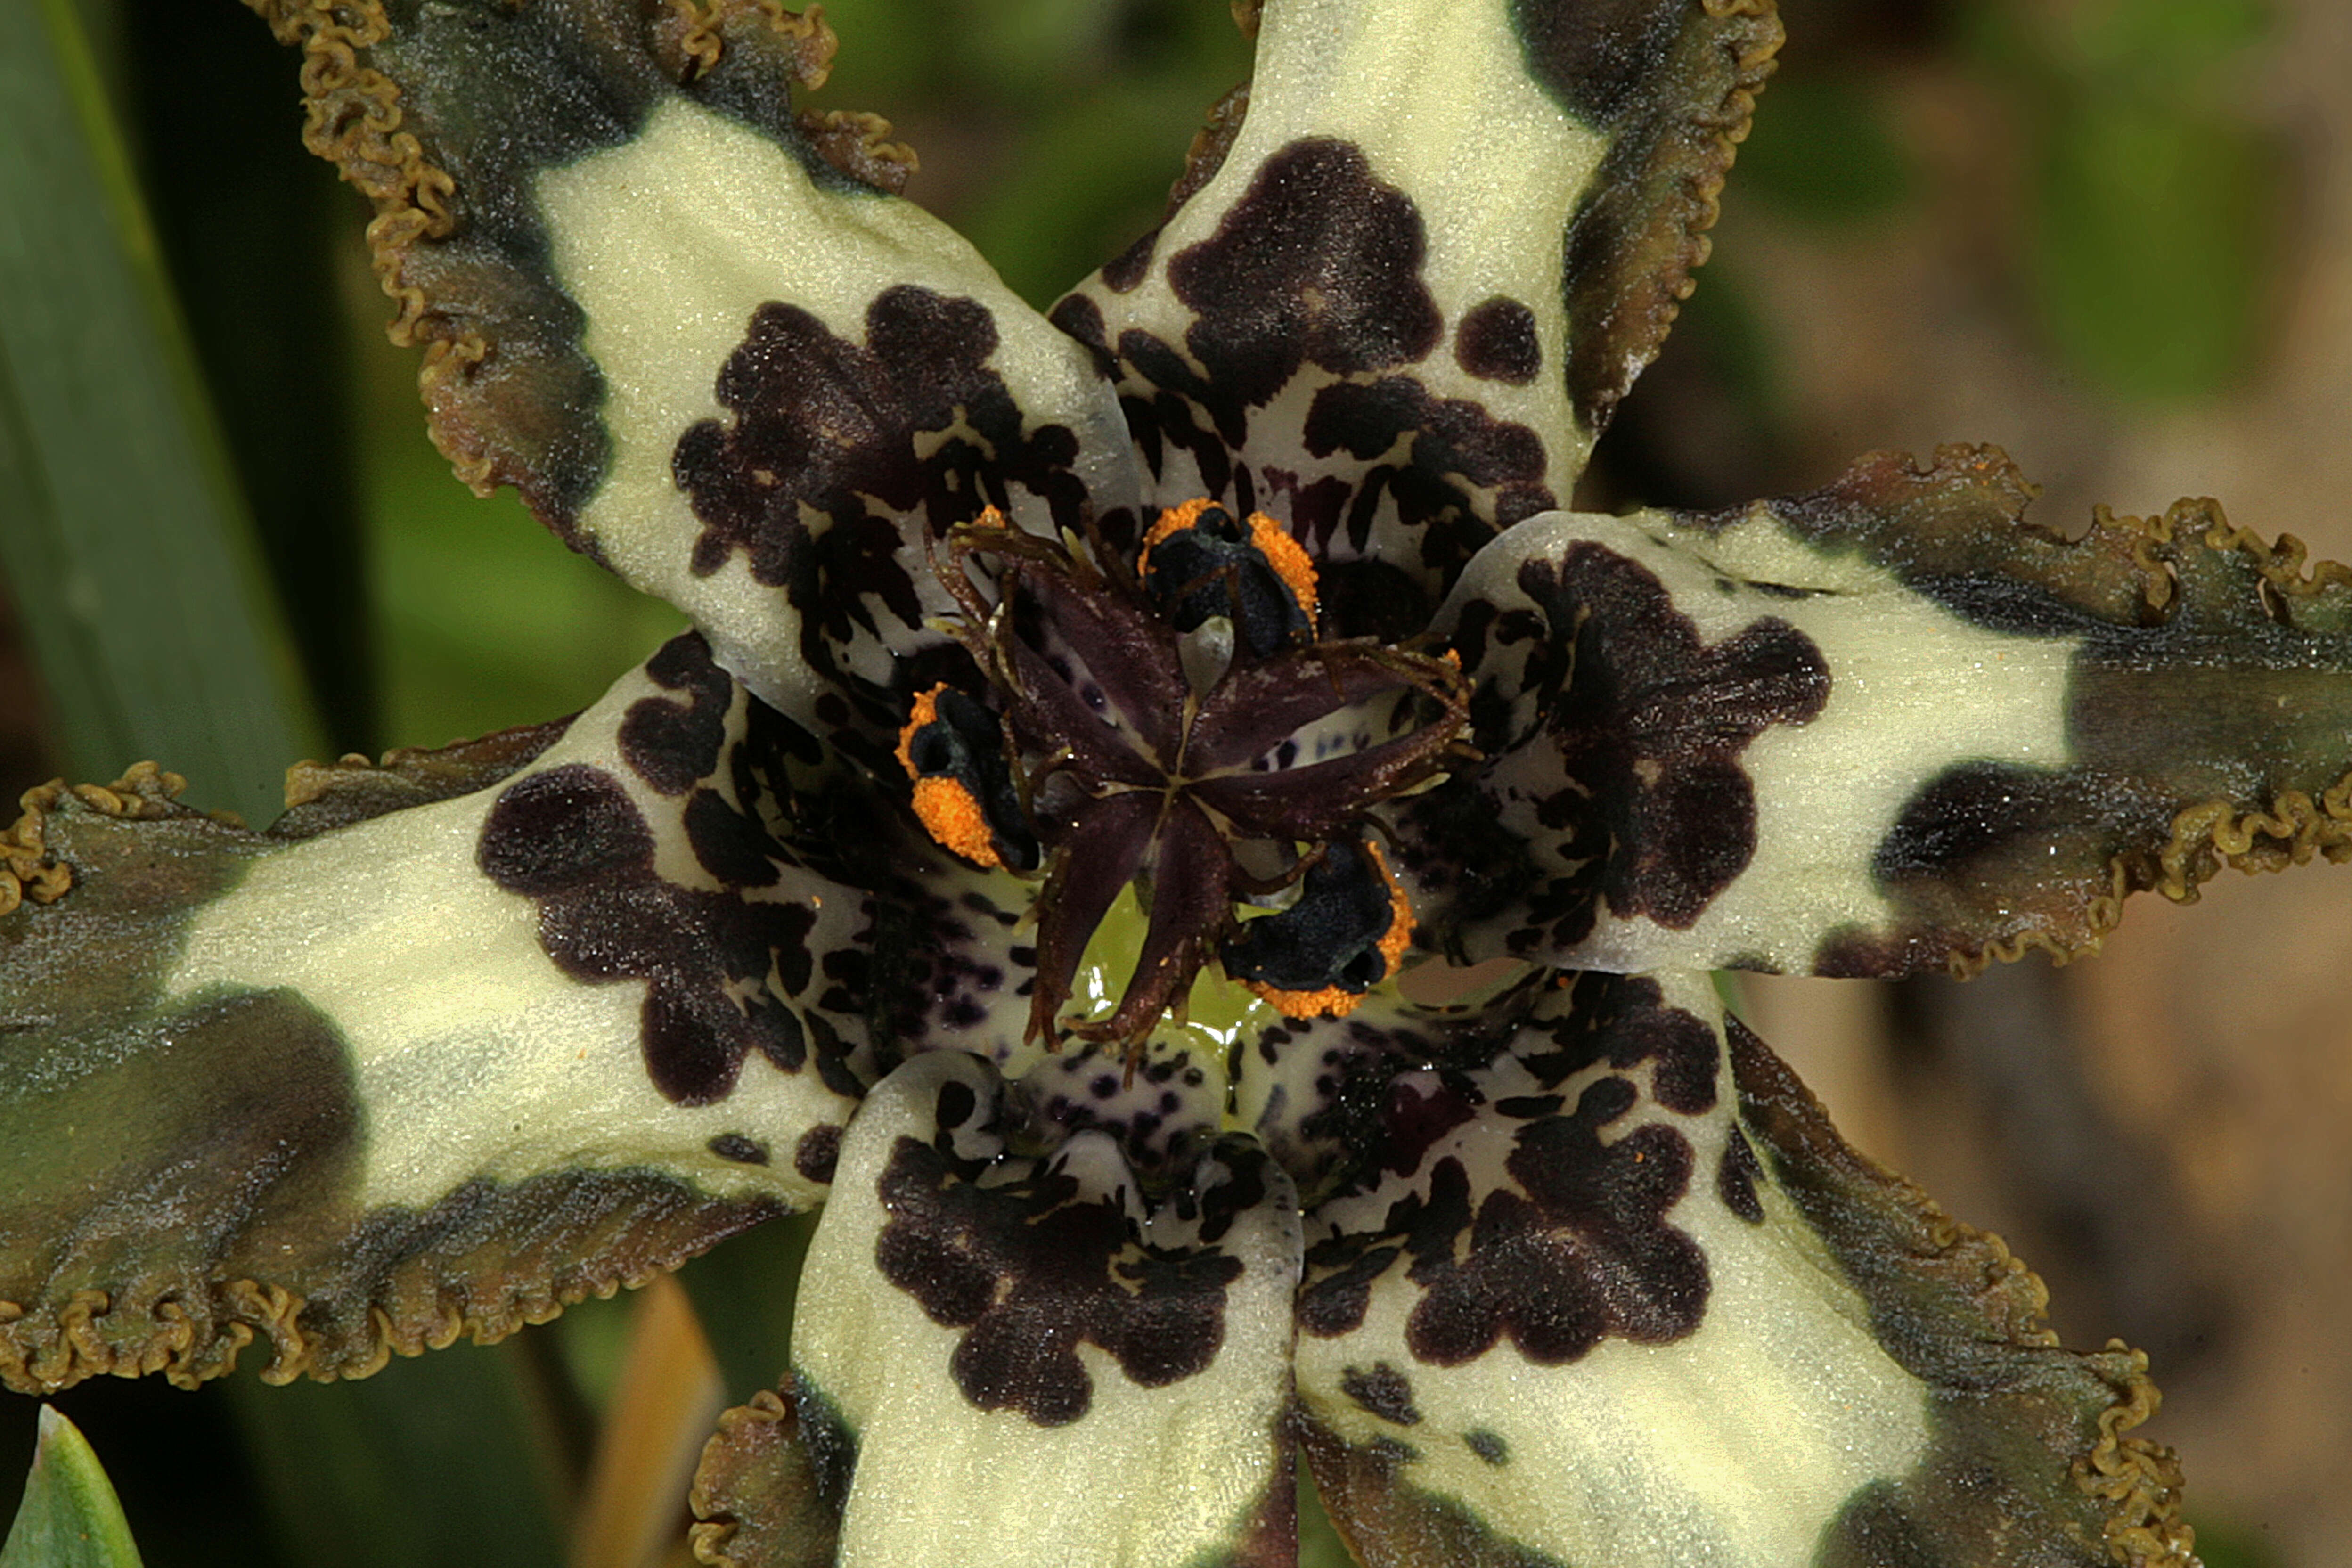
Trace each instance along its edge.
<path fill-rule="evenodd" d="M 2112 1561 L 2194 1568 L 2197 1537 L 2178 1516 L 2180 1460 L 2131 1436 L 2161 1399 L 2145 1352 L 2122 1340 L 2093 1354 L 2063 1349 L 2044 1319 L 2049 1288 L 1999 1237 L 1945 1215 L 1849 1147 L 1752 1032 L 1731 1023 L 1729 1039 L 1743 1126 L 1870 1300 L 1872 1331 L 1889 1354 L 1955 1408 L 2016 1401 L 2044 1413 L 2030 1429 L 2053 1448 L 2074 1441 L 2070 1429 L 2079 1434 L 2065 1476 L 2093 1509 Z M 1957 1352 L 1938 1347 L 1936 1328 L 1952 1324 L 1973 1324 L 1980 1338 L 1952 1340 Z M 2086 1401 L 2098 1401 L 2096 1415 Z M 2046 1505 L 2065 1507 L 2063 1497 Z"/>

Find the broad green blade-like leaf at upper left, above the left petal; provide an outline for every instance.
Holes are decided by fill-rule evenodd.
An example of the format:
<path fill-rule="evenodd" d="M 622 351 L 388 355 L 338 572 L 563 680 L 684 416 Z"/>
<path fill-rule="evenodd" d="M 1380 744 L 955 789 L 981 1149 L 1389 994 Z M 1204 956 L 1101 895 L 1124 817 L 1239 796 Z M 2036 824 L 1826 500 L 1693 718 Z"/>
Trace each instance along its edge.
<path fill-rule="evenodd" d="M 278 813 L 310 701 L 68 0 L 0 0 L 0 569 L 75 773 Z"/>

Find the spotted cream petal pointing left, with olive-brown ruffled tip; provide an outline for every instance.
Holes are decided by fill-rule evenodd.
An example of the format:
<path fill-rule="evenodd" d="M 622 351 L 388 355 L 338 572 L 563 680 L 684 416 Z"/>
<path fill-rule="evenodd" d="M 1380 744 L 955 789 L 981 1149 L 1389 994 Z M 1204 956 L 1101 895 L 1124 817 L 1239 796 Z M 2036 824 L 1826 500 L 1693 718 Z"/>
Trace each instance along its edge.
<path fill-rule="evenodd" d="M 680 637 L 567 724 L 299 769 L 268 835 L 49 792 L 0 917 L 0 1378 L 360 1375 L 830 1178 L 866 898 L 814 741 Z M 16 839 L 26 839 L 19 827 Z"/>

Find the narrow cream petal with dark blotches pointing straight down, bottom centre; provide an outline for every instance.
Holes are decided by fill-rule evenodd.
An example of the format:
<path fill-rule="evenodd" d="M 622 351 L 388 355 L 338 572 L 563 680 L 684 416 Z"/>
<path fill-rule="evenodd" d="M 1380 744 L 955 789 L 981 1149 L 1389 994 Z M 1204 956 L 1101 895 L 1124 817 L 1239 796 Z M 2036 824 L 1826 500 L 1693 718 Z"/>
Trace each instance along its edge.
<path fill-rule="evenodd" d="M 842 1145 L 793 1321 L 842 1563 L 1287 1563 L 1298 1211 L 1247 1138 L 1145 1199 L 1110 1135 L 1007 1147 L 960 1053 Z"/>

